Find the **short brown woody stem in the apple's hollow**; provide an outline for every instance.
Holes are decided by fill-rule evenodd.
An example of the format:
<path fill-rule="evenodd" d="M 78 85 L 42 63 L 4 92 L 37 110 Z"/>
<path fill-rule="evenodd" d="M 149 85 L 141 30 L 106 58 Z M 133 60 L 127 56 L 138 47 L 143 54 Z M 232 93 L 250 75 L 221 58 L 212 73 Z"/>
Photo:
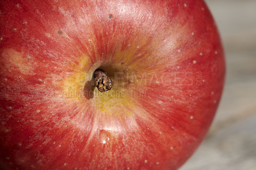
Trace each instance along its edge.
<path fill-rule="evenodd" d="M 112 88 L 113 81 L 102 70 L 95 70 L 94 77 L 94 84 L 100 92 L 108 91 Z"/>

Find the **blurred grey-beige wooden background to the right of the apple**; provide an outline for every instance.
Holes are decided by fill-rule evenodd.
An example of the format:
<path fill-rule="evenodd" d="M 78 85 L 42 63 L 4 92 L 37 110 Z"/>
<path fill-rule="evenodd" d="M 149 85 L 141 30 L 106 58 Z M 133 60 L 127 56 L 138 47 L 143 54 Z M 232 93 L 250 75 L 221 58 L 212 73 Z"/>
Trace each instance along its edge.
<path fill-rule="evenodd" d="M 226 84 L 207 137 L 180 170 L 255 170 L 256 1 L 205 1 L 225 47 Z"/>

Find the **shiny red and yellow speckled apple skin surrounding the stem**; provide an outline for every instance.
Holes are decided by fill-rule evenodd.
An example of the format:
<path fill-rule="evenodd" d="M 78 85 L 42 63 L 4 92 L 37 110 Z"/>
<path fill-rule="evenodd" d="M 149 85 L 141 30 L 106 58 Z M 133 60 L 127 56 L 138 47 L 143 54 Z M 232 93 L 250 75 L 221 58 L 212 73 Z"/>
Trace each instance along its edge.
<path fill-rule="evenodd" d="M 1 169 L 177 169 L 204 139 L 225 78 L 204 1 L 0 6 Z"/>

